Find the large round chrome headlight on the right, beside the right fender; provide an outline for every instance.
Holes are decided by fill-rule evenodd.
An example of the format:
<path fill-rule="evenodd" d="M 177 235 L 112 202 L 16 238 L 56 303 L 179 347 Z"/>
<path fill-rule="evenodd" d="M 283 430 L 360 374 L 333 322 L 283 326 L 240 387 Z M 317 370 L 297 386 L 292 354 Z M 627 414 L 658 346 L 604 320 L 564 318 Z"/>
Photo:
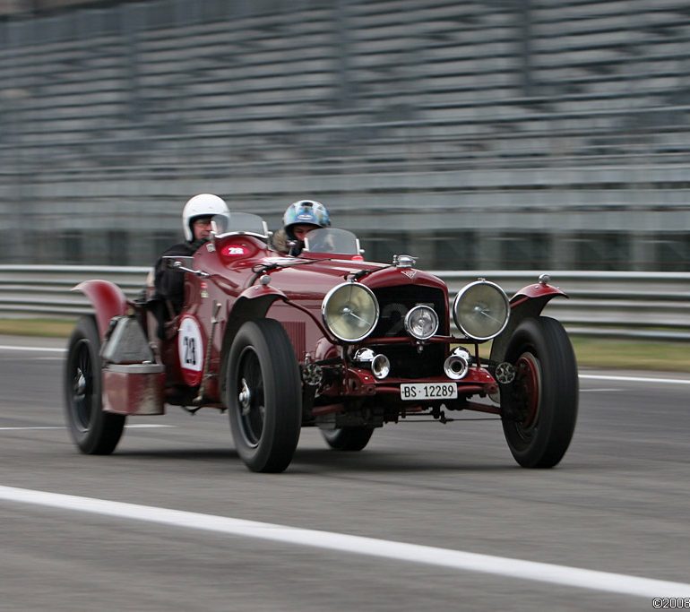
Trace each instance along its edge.
<path fill-rule="evenodd" d="M 503 332 L 510 316 L 505 291 L 487 280 L 470 282 L 453 301 L 453 319 L 472 340 L 491 340 Z"/>

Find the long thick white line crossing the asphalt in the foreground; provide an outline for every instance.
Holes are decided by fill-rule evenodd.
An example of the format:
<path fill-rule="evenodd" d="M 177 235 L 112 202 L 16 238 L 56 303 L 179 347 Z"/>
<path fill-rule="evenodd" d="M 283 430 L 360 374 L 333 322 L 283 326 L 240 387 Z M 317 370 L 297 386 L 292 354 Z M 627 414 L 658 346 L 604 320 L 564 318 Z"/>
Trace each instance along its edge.
<path fill-rule="evenodd" d="M 244 521 L 212 514 L 188 513 L 139 504 L 124 504 L 91 497 L 66 496 L 45 491 L 0 486 L 0 500 L 36 504 L 119 519 L 148 521 L 160 525 L 214 531 L 232 536 L 256 538 L 338 550 L 355 555 L 384 557 L 414 564 L 438 565 L 467 572 L 490 573 L 534 582 L 548 582 L 580 589 L 604 590 L 639 597 L 690 597 L 690 584 L 640 578 L 623 573 L 522 561 L 503 556 L 479 555 L 448 548 L 420 546 L 384 539 L 349 536 L 329 531 L 305 530 L 266 522 Z"/>

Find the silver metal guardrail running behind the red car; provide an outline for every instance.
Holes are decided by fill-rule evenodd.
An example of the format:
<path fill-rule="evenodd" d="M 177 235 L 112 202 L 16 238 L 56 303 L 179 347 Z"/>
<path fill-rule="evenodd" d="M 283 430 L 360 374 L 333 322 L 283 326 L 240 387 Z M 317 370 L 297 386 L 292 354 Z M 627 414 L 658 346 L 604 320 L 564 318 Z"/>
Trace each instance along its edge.
<path fill-rule="evenodd" d="M 65 318 L 91 312 L 82 280 L 110 280 L 127 297 L 143 289 L 149 267 L 0 265 L 0 317 Z M 512 296 L 537 282 L 541 271 L 437 271 L 450 296 L 477 278 L 493 280 Z M 690 272 L 550 273 L 569 299 L 552 300 L 545 313 L 574 335 L 690 340 Z"/>

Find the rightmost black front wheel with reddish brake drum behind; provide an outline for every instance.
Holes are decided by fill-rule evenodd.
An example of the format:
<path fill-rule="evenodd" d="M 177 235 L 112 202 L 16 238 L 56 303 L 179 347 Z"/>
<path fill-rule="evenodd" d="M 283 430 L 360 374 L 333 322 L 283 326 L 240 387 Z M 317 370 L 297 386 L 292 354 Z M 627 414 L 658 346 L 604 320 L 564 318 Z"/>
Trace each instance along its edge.
<path fill-rule="evenodd" d="M 563 325 L 546 316 L 518 325 L 505 360 L 516 368 L 501 389 L 503 430 L 523 468 L 552 468 L 567 450 L 577 420 L 577 363 Z"/>

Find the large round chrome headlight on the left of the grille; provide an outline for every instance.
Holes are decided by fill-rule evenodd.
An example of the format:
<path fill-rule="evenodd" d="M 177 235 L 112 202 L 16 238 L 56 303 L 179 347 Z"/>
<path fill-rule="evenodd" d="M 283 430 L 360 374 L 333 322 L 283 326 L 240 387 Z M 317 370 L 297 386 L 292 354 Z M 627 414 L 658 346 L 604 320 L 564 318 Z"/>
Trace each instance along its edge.
<path fill-rule="evenodd" d="M 371 289 L 357 282 L 333 287 L 321 305 L 323 323 L 339 340 L 367 338 L 378 323 L 378 301 Z"/>

